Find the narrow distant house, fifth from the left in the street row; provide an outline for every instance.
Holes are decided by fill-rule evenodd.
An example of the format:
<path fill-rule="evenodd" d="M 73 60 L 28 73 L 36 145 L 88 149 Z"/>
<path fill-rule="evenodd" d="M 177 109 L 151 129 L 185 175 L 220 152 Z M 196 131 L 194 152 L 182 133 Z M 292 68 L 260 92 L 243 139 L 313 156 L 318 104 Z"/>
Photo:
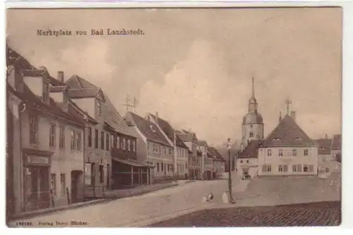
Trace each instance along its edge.
<path fill-rule="evenodd" d="M 176 134 L 189 148 L 189 179 L 201 179 L 202 153 L 198 149 L 196 134 L 184 129 L 177 130 Z"/>

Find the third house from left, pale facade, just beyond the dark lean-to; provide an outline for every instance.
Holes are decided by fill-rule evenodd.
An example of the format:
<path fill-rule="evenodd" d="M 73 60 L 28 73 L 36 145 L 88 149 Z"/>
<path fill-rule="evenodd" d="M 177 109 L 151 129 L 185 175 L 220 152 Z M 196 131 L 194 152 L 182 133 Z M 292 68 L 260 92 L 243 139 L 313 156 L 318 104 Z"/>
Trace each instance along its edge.
<path fill-rule="evenodd" d="M 149 115 L 143 118 L 132 112 L 125 115 L 128 125 L 140 135 L 138 138 L 138 160 L 153 167 L 150 182 L 173 179 L 174 148 L 150 119 Z"/>

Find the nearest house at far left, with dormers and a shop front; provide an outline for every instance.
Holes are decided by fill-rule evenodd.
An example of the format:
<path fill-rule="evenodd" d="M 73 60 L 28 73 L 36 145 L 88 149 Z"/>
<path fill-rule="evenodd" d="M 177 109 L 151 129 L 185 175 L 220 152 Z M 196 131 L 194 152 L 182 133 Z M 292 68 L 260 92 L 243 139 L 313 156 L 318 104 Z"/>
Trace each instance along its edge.
<path fill-rule="evenodd" d="M 84 199 L 85 119 L 68 87 L 7 48 L 8 216 Z M 59 73 L 61 75 L 61 73 Z"/>

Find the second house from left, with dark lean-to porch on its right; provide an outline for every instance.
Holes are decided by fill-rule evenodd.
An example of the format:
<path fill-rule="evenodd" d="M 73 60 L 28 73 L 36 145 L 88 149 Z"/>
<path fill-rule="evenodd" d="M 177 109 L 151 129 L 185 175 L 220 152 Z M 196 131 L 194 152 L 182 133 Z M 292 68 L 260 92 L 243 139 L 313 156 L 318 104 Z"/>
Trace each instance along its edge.
<path fill-rule="evenodd" d="M 136 160 L 136 136 L 104 91 L 78 75 L 66 84 L 70 99 L 94 120 L 85 127 L 86 186 L 121 189 L 148 184 L 148 166 Z"/>

